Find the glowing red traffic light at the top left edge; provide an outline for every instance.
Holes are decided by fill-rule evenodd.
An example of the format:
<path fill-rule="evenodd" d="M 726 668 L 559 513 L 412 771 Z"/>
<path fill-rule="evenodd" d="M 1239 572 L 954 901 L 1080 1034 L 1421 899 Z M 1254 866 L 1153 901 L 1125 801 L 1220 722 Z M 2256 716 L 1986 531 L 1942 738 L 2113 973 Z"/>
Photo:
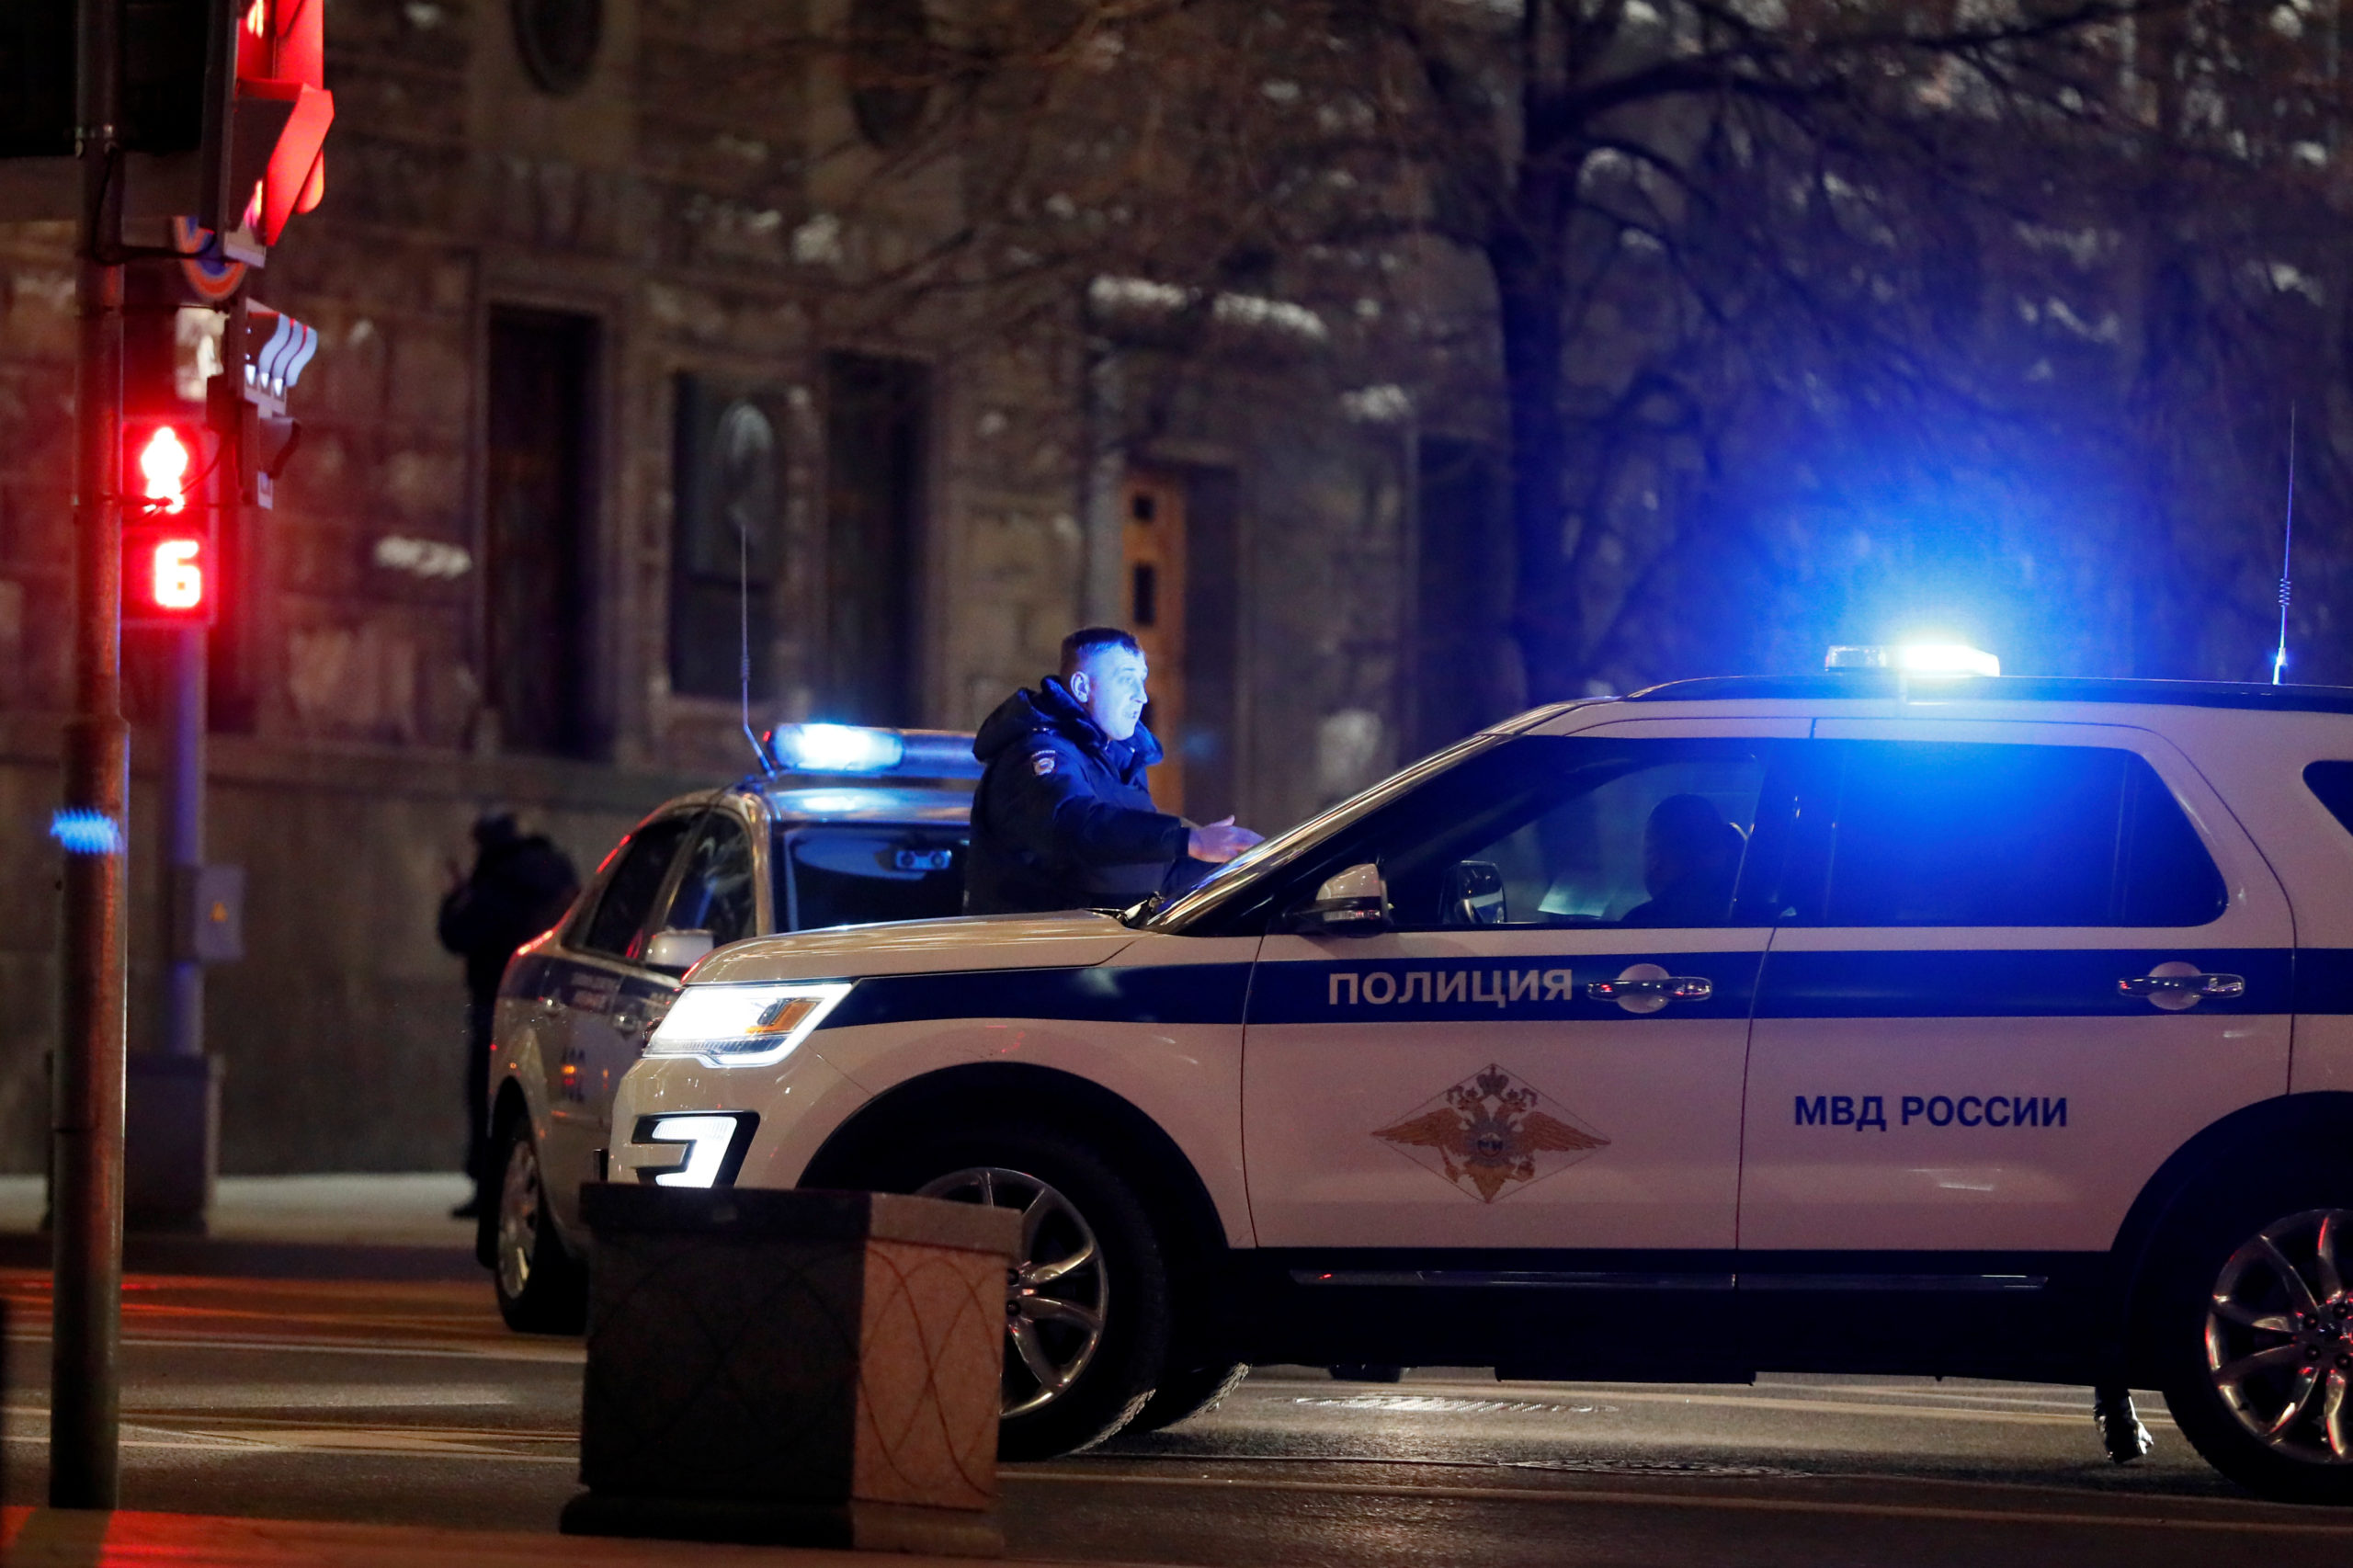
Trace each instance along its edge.
<path fill-rule="evenodd" d="M 327 0 L 214 0 L 235 19 L 231 92 L 216 104 L 198 221 L 221 252 L 261 264 L 287 219 L 327 193 Z"/>

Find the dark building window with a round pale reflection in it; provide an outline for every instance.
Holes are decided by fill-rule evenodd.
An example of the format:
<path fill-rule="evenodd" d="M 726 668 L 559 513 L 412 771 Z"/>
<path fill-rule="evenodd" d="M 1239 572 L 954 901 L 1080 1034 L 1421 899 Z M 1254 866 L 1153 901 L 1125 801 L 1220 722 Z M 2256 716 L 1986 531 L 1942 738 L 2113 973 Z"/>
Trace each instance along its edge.
<path fill-rule="evenodd" d="M 774 690 L 776 579 L 784 567 L 784 454 L 758 398 L 678 377 L 671 690 L 734 697 Z"/>

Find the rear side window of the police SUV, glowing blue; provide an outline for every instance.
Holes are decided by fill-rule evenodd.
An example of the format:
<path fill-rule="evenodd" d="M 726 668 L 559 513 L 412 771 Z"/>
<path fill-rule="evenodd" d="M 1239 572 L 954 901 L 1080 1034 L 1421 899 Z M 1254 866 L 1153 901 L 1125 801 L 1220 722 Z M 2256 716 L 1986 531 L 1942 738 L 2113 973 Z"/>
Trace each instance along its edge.
<path fill-rule="evenodd" d="M 2221 873 L 2132 751 L 1845 749 L 1821 925 L 2205 925 Z"/>

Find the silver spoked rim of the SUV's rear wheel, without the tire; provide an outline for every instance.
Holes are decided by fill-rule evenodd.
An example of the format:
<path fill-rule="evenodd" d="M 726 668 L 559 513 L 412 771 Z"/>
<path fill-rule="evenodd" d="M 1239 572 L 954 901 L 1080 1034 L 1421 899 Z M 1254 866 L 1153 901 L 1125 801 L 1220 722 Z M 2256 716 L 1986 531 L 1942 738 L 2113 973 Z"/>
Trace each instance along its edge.
<path fill-rule="evenodd" d="M 2353 1464 L 2353 1210 L 2308 1208 L 2249 1236 L 2214 1278 L 2207 1375 L 2224 1408 L 2273 1453 Z"/>

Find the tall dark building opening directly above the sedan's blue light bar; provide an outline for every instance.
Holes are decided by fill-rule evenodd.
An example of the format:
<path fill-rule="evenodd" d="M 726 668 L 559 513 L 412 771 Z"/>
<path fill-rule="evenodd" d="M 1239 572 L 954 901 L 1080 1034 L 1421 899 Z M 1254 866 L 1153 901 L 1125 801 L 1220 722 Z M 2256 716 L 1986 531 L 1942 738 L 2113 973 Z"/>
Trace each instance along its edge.
<path fill-rule="evenodd" d="M 925 506 L 929 367 L 826 360 L 826 683 L 819 716 L 915 720 L 915 530 Z"/>

